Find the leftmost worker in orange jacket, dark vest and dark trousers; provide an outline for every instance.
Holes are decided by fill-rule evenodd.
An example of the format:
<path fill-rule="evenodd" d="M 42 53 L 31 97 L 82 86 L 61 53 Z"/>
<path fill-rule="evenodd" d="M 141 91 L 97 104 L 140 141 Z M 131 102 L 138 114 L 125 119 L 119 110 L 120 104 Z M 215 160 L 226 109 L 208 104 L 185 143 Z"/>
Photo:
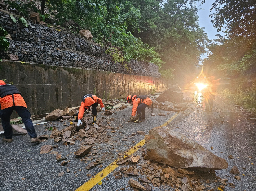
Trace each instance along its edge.
<path fill-rule="evenodd" d="M 31 138 L 31 142 L 41 142 L 41 140 L 37 138 L 35 128 L 30 119 L 30 112 L 28 111 L 27 104 L 25 103 L 19 90 L 14 85 L 6 85 L 3 80 L 0 80 L 0 97 L 0 117 L 2 120 L 5 136 L 3 141 L 8 143 L 13 141 L 13 130 L 10 124 L 10 116 L 12 115 L 13 110 L 15 110 L 21 117 L 28 135 Z"/>

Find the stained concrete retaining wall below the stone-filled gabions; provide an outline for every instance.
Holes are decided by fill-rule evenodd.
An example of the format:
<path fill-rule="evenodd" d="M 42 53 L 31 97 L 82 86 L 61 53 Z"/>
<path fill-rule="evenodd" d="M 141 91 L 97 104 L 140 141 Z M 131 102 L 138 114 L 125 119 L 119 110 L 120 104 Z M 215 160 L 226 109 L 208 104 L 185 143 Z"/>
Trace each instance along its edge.
<path fill-rule="evenodd" d="M 100 98 L 126 98 L 129 94 L 145 95 L 151 90 L 162 92 L 168 80 L 71 67 L 1 62 L 0 79 L 13 84 L 22 93 L 31 115 L 49 113 L 56 108 L 81 104 L 81 97 L 95 93 Z"/>

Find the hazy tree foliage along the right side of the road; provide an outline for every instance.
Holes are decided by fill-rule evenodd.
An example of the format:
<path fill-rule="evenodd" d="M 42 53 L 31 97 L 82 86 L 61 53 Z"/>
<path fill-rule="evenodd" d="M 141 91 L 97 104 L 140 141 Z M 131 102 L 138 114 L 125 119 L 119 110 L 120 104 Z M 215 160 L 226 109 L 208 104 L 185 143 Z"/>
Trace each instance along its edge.
<path fill-rule="evenodd" d="M 247 108 L 256 108 L 256 6 L 255 1 L 216 0 L 211 10 L 214 26 L 226 38 L 208 44 L 206 71 L 230 79 L 224 95 Z"/>

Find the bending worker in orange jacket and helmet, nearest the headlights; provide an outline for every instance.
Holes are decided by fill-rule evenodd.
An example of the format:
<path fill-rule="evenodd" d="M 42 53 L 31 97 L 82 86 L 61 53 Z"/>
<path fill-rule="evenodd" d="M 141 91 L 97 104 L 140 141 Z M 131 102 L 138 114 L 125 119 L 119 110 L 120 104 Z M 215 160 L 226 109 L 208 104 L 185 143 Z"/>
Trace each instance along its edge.
<path fill-rule="evenodd" d="M 130 119 L 134 119 L 136 115 L 136 111 L 138 114 L 138 119 L 135 120 L 135 123 L 142 122 L 142 119 L 145 119 L 145 108 L 149 107 L 152 104 L 152 100 L 148 97 L 144 96 L 137 96 L 137 95 L 128 95 L 126 98 L 128 103 L 133 104 L 132 107 L 132 116 Z"/>

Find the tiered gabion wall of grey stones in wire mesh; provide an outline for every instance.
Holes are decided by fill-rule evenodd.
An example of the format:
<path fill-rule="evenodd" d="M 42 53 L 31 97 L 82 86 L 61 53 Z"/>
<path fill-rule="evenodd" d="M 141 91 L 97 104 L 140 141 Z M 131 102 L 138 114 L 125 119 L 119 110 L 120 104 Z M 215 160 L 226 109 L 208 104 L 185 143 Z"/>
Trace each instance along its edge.
<path fill-rule="evenodd" d="M 1 11 L 0 24 L 12 38 L 9 40 L 9 50 L 0 51 L 2 59 L 16 55 L 16 60 L 23 62 L 160 77 L 158 66 L 154 64 L 132 61 L 130 69 L 127 69 L 123 64 L 106 59 L 105 51 L 96 43 L 62 29 L 28 20 L 28 27 L 25 27 L 20 21 L 14 23 L 10 15 Z"/>

